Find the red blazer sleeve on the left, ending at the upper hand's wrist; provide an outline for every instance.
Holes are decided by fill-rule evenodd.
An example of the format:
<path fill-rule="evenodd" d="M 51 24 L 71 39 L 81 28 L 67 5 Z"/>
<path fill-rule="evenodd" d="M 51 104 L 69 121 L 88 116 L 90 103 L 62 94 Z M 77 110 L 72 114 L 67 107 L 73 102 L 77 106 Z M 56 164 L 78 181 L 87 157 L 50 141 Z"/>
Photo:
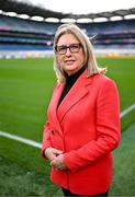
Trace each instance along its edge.
<path fill-rule="evenodd" d="M 42 140 L 42 155 L 43 158 L 46 159 L 44 151 L 45 149 L 52 147 L 52 142 L 50 142 L 50 126 L 49 126 L 49 121 L 47 121 L 44 126 L 44 131 L 43 131 L 43 140 Z"/>

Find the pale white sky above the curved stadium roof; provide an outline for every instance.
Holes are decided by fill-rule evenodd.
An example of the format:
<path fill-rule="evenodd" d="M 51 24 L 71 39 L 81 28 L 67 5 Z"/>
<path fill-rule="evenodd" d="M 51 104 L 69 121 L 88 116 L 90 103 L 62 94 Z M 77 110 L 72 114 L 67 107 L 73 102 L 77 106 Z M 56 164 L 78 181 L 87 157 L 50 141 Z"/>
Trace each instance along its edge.
<path fill-rule="evenodd" d="M 135 0 L 18 0 L 63 13 L 88 14 L 135 8 Z"/>

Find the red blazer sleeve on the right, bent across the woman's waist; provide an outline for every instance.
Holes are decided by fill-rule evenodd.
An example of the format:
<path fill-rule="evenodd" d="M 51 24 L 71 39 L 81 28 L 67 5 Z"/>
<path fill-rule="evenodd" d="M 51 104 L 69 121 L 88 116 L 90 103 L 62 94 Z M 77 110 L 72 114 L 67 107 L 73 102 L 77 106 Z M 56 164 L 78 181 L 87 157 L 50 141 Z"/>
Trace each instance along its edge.
<path fill-rule="evenodd" d="M 97 139 L 78 150 L 65 153 L 64 161 L 72 172 L 92 164 L 114 150 L 120 142 L 120 104 L 119 93 L 112 80 L 105 80 L 97 97 Z"/>

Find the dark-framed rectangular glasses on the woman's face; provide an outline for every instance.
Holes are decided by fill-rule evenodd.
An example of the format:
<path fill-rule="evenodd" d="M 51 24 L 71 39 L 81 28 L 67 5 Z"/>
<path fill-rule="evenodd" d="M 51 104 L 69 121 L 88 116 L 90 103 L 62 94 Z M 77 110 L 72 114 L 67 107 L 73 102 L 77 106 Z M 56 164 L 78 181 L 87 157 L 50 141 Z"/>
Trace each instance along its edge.
<path fill-rule="evenodd" d="M 74 47 L 74 46 L 78 46 L 78 50 L 72 50 L 71 47 Z M 64 47 L 61 53 L 59 53 L 60 50 L 58 50 L 58 48 L 60 48 L 60 47 Z M 82 45 L 81 45 L 80 43 L 72 43 L 72 44 L 69 45 L 69 46 L 66 46 L 66 45 L 57 46 L 57 45 L 56 45 L 56 46 L 55 46 L 55 53 L 56 53 L 57 55 L 65 55 L 65 54 L 67 53 L 67 49 L 69 48 L 69 50 L 70 50 L 71 54 L 77 54 L 77 53 L 79 53 L 79 50 L 80 50 L 81 47 L 82 47 Z"/>

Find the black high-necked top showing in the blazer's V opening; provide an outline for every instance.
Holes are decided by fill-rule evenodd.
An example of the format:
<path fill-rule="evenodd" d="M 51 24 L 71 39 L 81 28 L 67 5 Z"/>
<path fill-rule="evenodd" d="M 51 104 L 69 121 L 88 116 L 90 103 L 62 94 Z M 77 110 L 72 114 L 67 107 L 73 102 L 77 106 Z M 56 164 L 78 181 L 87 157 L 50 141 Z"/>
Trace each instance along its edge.
<path fill-rule="evenodd" d="M 77 79 L 80 77 L 80 74 L 86 70 L 86 67 L 82 67 L 78 72 L 71 74 L 71 76 L 68 76 L 67 73 L 65 73 L 66 76 L 66 84 L 65 84 L 65 88 L 64 88 L 64 91 L 61 93 L 61 96 L 60 96 L 60 100 L 59 100 L 59 103 L 58 103 L 58 106 L 59 104 L 61 103 L 61 101 L 65 99 L 65 96 L 67 95 L 67 93 L 69 92 L 69 90 L 71 89 L 71 86 L 75 84 L 75 82 L 77 81 Z"/>

